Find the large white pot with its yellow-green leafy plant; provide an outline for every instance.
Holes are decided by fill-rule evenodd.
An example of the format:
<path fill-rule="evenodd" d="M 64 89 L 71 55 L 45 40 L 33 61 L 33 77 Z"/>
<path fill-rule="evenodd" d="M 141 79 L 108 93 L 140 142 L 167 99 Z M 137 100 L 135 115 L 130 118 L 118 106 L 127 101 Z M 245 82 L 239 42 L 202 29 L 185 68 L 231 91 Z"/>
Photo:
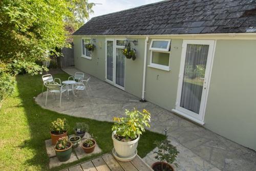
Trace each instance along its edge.
<path fill-rule="evenodd" d="M 139 112 L 125 110 L 126 117 L 115 117 L 112 126 L 112 139 L 117 155 L 123 159 L 135 157 L 138 141 L 145 126 L 150 127 L 150 113 L 145 109 Z"/>

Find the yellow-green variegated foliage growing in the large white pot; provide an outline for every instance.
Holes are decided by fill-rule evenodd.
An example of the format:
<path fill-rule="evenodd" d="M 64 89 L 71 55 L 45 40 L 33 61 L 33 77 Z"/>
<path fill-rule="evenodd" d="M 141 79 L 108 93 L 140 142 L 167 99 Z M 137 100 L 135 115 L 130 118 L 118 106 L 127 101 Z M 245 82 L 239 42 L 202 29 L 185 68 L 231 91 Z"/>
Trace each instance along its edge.
<path fill-rule="evenodd" d="M 118 140 L 134 140 L 145 132 L 145 126 L 150 127 L 151 115 L 145 109 L 142 112 L 125 110 L 125 115 L 122 118 L 114 117 L 117 122 L 112 126 L 112 131 L 116 131 L 115 138 Z"/>

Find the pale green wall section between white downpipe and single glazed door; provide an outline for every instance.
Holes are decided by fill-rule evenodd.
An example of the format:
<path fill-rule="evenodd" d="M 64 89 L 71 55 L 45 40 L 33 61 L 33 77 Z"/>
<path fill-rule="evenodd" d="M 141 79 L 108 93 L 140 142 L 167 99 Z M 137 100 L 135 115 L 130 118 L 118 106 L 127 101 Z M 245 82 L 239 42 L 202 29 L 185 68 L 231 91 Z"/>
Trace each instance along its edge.
<path fill-rule="evenodd" d="M 148 48 L 150 42 L 148 44 Z M 180 70 L 182 39 L 172 39 L 170 47 L 170 71 L 146 68 L 145 99 L 167 110 L 175 108 L 178 75 Z M 150 51 L 147 51 L 147 65 L 150 65 Z"/>

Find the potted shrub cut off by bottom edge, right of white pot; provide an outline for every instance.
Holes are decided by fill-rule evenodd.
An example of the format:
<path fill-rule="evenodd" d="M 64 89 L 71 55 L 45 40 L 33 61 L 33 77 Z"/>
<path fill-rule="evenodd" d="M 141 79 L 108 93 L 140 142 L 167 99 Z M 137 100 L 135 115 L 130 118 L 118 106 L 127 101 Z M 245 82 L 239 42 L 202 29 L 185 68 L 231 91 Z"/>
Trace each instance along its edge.
<path fill-rule="evenodd" d="M 175 171 L 171 164 L 174 164 L 176 167 L 178 166 L 177 163 L 174 163 L 176 157 L 178 156 L 179 152 L 176 146 L 170 144 L 170 141 L 165 139 L 163 141 L 156 143 L 158 146 L 158 151 L 155 152 L 157 156 L 155 157 L 159 162 L 155 162 L 152 165 L 153 170 L 155 171 Z"/>

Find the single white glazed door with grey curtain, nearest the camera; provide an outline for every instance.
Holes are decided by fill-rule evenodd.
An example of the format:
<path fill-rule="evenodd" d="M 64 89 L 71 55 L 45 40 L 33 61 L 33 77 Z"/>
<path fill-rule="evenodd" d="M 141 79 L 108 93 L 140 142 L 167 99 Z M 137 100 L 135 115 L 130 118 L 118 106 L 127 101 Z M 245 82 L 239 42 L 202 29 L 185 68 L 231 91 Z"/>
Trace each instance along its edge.
<path fill-rule="evenodd" d="M 175 112 L 204 124 L 215 40 L 183 40 Z"/>

